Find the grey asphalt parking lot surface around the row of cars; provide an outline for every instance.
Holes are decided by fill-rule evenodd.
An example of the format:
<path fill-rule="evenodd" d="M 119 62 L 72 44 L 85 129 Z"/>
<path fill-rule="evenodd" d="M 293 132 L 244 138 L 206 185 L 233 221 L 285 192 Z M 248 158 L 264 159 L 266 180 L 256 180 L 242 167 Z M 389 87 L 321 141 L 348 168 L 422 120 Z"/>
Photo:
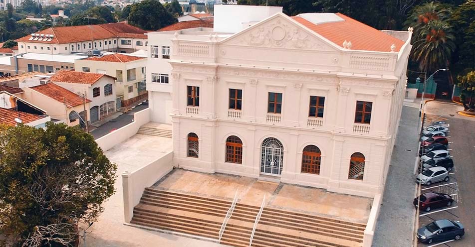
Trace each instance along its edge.
<path fill-rule="evenodd" d="M 425 126 L 430 125 L 437 116 L 429 116 Z M 436 220 L 449 219 L 460 221 L 465 228 L 465 235 L 460 241 L 449 240 L 440 243 L 423 244 L 418 247 L 473 247 L 475 246 L 475 192 L 473 180 L 475 176 L 475 135 L 474 120 L 449 118 L 445 120 L 450 124 L 449 151 L 454 160 L 454 169 L 449 173 L 447 182 L 433 183 L 430 186 L 421 186 L 421 194 L 436 192 L 449 194 L 454 199 L 450 206 L 432 209 L 430 212 L 419 213 L 419 227 L 428 225 Z M 412 203 L 412 202 L 411 202 Z M 417 229 L 416 229 L 417 230 Z"/>

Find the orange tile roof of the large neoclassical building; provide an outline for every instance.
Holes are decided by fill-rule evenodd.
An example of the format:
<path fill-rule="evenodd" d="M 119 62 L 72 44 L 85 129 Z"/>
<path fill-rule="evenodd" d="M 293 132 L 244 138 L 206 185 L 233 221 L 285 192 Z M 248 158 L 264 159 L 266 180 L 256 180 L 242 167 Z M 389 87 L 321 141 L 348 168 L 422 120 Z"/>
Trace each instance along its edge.
<path fill-rule="evenodd" d="M 397 52 L 404 45 L 404 41 L 378 29 L 341 13 L 336 13 L 336 15 L 343 18 L 344 21 L 314 24 L 299 16 L 293 16 L 291 18 L 340 47 L 343 47 L 345 40 L 351 41 L 352 50 L 390 52 L 391 45 L 395 44 L 395 51 Z"/>

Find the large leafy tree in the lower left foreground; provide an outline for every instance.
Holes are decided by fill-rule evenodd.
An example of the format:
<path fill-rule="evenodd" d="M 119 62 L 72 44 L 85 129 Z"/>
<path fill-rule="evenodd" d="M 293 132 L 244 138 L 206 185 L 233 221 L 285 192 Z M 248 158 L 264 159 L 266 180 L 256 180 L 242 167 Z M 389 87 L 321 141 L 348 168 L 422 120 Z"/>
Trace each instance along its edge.
<path fill-rule="evenodd" d="M 0 232 L 16 247 L 72 246 L 114 193 L 115 164 L 65 124 L 0 125 L 0 140 Z"/>

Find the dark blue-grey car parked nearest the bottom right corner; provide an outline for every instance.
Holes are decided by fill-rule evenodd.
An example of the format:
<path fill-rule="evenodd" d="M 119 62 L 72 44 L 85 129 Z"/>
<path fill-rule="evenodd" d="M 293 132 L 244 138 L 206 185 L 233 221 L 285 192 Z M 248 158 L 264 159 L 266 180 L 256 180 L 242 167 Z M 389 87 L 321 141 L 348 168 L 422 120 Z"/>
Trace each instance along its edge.
<path fill-rule="evenodd" d="M 417 238 L 422 243 L 432 244 L 446 240 L 460 240 L 465 234 L 460 221 L 439 220 L 417 230 Z"/>

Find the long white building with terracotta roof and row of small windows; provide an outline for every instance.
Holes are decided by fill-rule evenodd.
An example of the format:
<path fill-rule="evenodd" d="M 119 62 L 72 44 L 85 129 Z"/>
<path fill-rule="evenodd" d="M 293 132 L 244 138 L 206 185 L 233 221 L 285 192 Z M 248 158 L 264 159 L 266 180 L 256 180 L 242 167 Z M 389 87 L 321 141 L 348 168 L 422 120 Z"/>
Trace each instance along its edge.
<path fill-rule="evenodd" d="M 131 53 L 146 49 L 147 31 L 125 22 L 53 26 L 17 39 L 18 53 L 73 54 L 91 50 Z"/>

